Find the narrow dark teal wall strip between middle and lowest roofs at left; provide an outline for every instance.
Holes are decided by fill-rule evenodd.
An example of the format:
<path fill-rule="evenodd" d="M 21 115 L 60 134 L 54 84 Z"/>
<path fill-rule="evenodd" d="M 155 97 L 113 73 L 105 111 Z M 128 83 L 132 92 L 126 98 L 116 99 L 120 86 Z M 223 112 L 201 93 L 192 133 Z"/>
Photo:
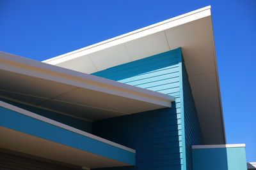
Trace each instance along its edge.
<path fill-rule="evenodd" d="M 43 110 L 33 106 L 28 106 L 26 104 L 17 103 L 14 101 L 3 99 L 1 97 L 0 97 L 0 101 L 4 101 L 5 103 L 9 103 L 19 108 L 22 108 L 24 110 L 31 111 L 43 117 L 51 118 L 52 120 L 61 122 L 62 124 L 70 125 L 72 127 L 75 127 L 76 129 L 80 129 L 81 131 L 92 133 L 92 122 L 88 122 L 80 118 L 69 117 L 67 115 L 63 115 L 53 111 L 48 111 L 48 110 Z"/>

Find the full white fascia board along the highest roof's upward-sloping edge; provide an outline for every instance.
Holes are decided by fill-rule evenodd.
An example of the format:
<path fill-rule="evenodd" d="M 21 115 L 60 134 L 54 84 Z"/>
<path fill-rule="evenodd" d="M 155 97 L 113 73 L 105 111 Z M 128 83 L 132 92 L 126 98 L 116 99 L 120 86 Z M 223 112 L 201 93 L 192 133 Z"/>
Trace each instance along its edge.
<path fill-rule="evenodd" d="M 79 50 L 65 53 L 63 55 L 59 55 L 57 57 L 53 57 L 51 59 L 44 60 L 42 62 L 52 64 L 52 65 L 60 64 L 61 62 L 65 62 L 67 60 L 76 59 L 77 57 L 81 57 L 81 56 L 88 55 L 93 52 L 104 50 L 106 48 L 110 48 L 111 46 L 120 45 L 120 44 L 126 43 L 128 41 L 132 41 L 134 39 L 148 36 L 148 35 L 154 34 L 156 32 L 161 32 L 166 29 L 170 29 L 172 27 L 186 24 L 188 22 L 192 22 L 194 20 L 198 20 L 200 18 L 204 18 L 204 17 L 208 17 L 208 16 L 211 16 L 211 6 L 206 6 L 204 8 L 200 8 L 198 10 L 191 11 L 191 12 L 183 14 L 183 15 L 179 15 L 178 17 L 170 18 L 168 20 L 164 20 L 163 22 L 158 22 L 157 24 L 149 25 L 147 27 L 143 27 L 136 31 L 128 32 L 127 34 L 123 34 L 121 36 L 116 36 L 115 38 L 111 38 L 106 41 L 96 43 L 94 45 L 86 46 Z"/>

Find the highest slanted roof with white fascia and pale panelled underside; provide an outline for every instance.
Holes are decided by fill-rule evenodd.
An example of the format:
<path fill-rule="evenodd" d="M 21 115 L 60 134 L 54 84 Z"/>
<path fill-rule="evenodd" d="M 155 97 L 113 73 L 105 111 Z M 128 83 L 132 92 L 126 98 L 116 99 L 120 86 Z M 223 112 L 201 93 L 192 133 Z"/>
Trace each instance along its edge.
<path fill-rule="evenodd" d="M 211 6 L 43 62 L 94 73 L 182 47 L 205 144 L 225 144 Z"/>

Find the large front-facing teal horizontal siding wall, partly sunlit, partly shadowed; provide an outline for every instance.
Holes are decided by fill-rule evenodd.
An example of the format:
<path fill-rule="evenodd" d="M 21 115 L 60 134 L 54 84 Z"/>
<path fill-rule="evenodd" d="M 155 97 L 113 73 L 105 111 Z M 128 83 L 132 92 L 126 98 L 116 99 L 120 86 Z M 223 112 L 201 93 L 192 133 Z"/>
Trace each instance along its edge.
<path fill-rule="evenodd" d="M 180 61 L 178 48 L 93 73 L 175 96 L 172 108 L 93 122 L 93 134 L 136 150 L 136 166 L 108 169 L 181 169 Z"/>

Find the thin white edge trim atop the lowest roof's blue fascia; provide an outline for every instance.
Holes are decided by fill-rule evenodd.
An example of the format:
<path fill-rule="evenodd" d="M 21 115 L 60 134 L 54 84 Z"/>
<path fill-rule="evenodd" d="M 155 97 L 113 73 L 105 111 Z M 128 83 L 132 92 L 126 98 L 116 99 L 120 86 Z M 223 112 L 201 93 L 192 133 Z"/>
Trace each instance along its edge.
<path fill-rule="evenodd" d="M 74 127 L 70 127 L 69 125 L 61 124 L 60 122 L 56 122 L 55 120 L 52 120 L 50 118 L 42 117 L 40 115 L 37 115 L 36 113 L 32 113 L 31 111 L 24 110 L 24 109 L 19 108 L 17 106 L 13 106 L 12 104 L 8 104 L 8 103 L 5 103 L 3 101 L 0 101 L 0 106 L 2 106 L 3 108 L 7 108 L 8 110 L 15 111 L 17 113 L 21 113 L 21 114 L 26 115 L 28 117 L 36 118 L 36 119 L 38 119 L 42 122 L 46 122 L 48 124 L 52 124 L 52 125 L 61 127 L 61 128 L 66 129 L 68 131 L 75 132 L 77 134 L 81 134 L 81 135 L 86 136 L 88 138 L 95 139 L 95 140 L 100 141 L 102 143 L 106 143 L 108 145 L 112 145 L 112 146 L 115 146 L 117 148 L 121 148 L 121 149 L 126 150 L 128 152 L 136 153 L 136 150 L 133 150 L 133 149 L 128 148 L 126 146 L 119 145 L 118 143 L 114 143 L 114 142 L 109 141 L 107 139 L 100 138 L 99 136 L 95 136 L 95 135 L 90 134 L 88 132 L 84 132 L 84 131 L 81 131 L 81 130 L 76 129 Z"/>

